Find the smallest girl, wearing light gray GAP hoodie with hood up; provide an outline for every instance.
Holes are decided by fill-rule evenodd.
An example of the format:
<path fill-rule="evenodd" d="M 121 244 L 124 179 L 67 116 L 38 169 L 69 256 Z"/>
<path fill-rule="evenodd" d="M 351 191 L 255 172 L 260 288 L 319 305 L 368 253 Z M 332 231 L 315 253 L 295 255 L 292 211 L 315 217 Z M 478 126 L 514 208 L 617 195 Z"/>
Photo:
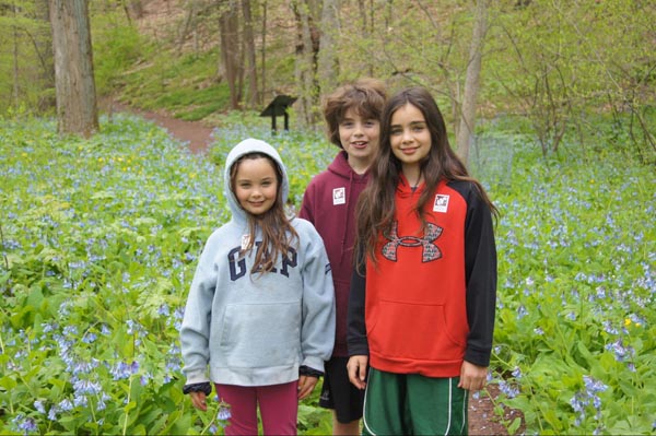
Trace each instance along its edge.
<path fill-rule="evenodd" d="M 298 400 L 313 391 L 335 342 L 335 290 L 314 226 L 289 217 L 278 152 L 247 139 L 227 155 L 232 219 L 210 235 L 180 329 L 185 393 L 199 410 L 214 384 L 230 404 L 226 435 L 296 434 Z"/>

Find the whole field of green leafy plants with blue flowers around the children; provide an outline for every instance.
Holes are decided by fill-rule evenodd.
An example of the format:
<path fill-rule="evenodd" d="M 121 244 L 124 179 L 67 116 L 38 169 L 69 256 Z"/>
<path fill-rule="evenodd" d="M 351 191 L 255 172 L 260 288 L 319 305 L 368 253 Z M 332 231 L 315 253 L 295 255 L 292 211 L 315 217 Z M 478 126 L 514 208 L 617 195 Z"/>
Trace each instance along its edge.
<path fill-rule="evenodd" d="M 232 127 L 203 160 L 152 123 L 101 122 L 83 141 L 51 120 L 0 121 L 0 433 L 221 433 L 215 403 L 201 414 L 181 394 L 177 329 L 227 217 L 225 153 L 271 142 L 294 208 L 335 150 L 320 133 Z M 656 176 L 610 152 L 543 160 L 529 142 L 487 132 L 472 164 L 502 212 L 500 413 L 522 410 L 529 434 L 653 433 Z M 315 404 L 301 433 L 328 434 Z"/>

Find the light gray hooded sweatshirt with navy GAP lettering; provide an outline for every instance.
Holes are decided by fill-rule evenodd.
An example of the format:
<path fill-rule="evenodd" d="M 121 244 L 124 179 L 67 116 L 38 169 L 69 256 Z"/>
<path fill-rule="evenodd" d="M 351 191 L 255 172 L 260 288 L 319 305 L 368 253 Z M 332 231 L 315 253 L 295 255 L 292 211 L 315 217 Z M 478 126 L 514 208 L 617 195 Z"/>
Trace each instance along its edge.
<path fill-rule="evenodd" d="M 242 244 L 248 240 L 248 221 L 230 189 L 230 168 L 253 152 L 278 163 L 282 199 L 288 199 L 286 168 L 271 145 L 247 139 L 229 153 L 223 186 L 232 219 L 212 233 L 200 255 L 180 329 L 187 385 L 290 382 L 298 379 L 301 365 L 323 372 L 332 352 L 335 290 L 328 256 L 314 226 L 291 219 L 297 245 L 271 272 L 251 274 L 255 249 L 239 258 Z"/>

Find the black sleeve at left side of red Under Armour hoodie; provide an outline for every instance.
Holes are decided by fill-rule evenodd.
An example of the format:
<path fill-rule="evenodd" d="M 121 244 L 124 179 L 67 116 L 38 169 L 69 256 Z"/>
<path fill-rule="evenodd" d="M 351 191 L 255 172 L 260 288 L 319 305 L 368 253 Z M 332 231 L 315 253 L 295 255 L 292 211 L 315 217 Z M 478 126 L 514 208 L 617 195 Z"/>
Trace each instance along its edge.
<path fill-rule="evenodd" d="M 356 250 L 361 252 L 362 250 Z M 359 255 L 360 256 L 360 255 Z M 356 264 L 361 264 L 362 259 L 358 259 Z M 364 295 L 366 287 L 366 271 L 362 267 L 363 273 L 353 269 L 351 276 L 351 292 L 349 295 L 349 311 L 347 316 L 347 344 L 349 356 L 368 355 L 368 343 L 366 340 L 366 326 L 364 322 Z"/>

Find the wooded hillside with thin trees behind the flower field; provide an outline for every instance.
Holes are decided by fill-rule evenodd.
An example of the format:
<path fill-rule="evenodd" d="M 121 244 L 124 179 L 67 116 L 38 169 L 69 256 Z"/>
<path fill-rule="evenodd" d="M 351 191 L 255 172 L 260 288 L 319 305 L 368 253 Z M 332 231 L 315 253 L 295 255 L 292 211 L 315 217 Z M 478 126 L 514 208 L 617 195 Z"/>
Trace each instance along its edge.
<path fill-rule="evenodd" d="M 216 126 L 229 110 L 257 114 L 289 94 L 298 98 L 294 123 L 317 127 L 321 95 L 376 76 L 393 91 L 431 89 L 465 158 L 476 116 L 516 117 L 547 154 L 567 132 L 595 148 L 595 120 L 607 115 L 629 132 L 623 145 L 651 162 L 655 9 L 640 0 L 92 0 L 81 20 L 91 20 L 82 31 L 93 36 L 85 55 L 97 97 L 183 119 Z M 0 2 L 0 114 L 55 108 L 48 11 L 47 0 Z M 65 55 L 77 48 L 70 42 L 59 45 Z M 83 101 L 87 113 L 95 102 Z"/>

